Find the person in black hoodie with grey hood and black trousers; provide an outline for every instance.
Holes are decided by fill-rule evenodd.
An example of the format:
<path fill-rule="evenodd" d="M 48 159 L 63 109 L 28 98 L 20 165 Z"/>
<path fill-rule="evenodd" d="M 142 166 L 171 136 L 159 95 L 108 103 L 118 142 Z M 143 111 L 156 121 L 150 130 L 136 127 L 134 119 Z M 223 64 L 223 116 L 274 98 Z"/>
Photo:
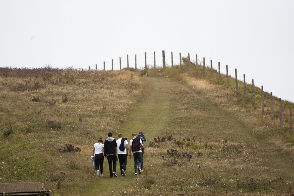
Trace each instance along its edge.
<path fill-rule="evenodd" d="M 109 165 L 109 173 L 110 178 L 117 177 L 115 170 L 116 170 L 116 153 L 117 153 L 117 144 L 116 140 L 112 137 L 112 133 L 109 132 L 108 138 L 104 142 L 104 157 L 107 158 L 108 165 Z M 113 169 L 112 169 L 113 165 Z"/>

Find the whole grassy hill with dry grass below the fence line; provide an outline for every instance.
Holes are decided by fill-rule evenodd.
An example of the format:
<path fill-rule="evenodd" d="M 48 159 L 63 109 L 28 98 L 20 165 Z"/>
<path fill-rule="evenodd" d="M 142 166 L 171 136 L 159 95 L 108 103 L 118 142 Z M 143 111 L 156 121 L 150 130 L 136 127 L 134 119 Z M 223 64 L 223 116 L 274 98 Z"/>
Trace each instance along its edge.
<path fill-rule="evenodd" d="M 173 69 L 78 71 L 0 69 L 0 183 L 44 182 L 54 195 L 289 195 L 294 193 L 294 137 L 288 106 L 280 127 L 222 75 Z M 195 65 L 192 64 L 192 70 Z M 140 77 L 146 74 L 147 77 Z M 269 94 L 265 93 L 265 104 Z M 259 107 L 260 106 L 260 107 Z M 144 171 L 97 178 L 91 149 L 111 131 L 147 137 Z M 118 166 L 119 168 L 119 166 Z M 118 170 L 117 170 L 118 171 Z"/>

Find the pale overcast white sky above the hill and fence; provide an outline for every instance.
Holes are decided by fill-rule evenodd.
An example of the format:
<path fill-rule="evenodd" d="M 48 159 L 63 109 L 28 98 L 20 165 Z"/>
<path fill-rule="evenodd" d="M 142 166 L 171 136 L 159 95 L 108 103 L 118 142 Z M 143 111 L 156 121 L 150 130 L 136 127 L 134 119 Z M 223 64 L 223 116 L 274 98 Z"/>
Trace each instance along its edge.
<path fill-rule="evenodd" d="M 190 54 L 294 102 L 292 0 L 0 0 L 0 67 L 119 69 Z"/>

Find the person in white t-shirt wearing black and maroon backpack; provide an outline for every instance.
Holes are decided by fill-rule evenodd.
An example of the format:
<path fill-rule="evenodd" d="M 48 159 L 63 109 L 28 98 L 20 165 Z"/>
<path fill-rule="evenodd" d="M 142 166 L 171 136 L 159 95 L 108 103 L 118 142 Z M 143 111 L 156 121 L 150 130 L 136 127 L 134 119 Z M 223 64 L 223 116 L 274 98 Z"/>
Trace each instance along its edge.
<path fill-rule="evenodd" d="M 135 169 L 135 176 L 137 176 L 137 170 L 138 173 L 141 174 L 141 161 L 142 161 L 142 140 L 137 137 L 136 133 L 132 134 L 133 139 L 130 140 L 130 149 L 129 149 L 129 156 L 131 159 L 131 152 L 133 152 L 133 157 L 134 157 L 134 169 Z M 138 164 L 137 164 L 138 161 Z"/>

